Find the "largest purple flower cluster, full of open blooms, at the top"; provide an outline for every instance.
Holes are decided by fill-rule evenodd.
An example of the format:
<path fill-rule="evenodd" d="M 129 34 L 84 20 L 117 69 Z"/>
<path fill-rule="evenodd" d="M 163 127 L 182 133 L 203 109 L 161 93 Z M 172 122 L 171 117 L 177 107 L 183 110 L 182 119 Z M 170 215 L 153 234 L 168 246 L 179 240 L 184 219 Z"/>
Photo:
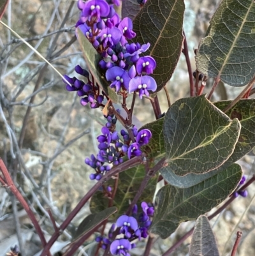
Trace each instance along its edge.
<path fill-rule="evenodd" d="M 113 1 L 119 4 L 118 0 Z M 128 17 L 120 20 L 113 4 L 105 0 L 78 0 L 81 10 L 77 27 L 91 41 L 101 54 L 99 66 L 105 70 L 106 80 L 117 93 L 137 91 L 140 98 L 156 91 L 156 81 L 149 75 L 156 68 L 156 61 L 150 57 L 140 57 L 150 44 L 129 44 L 135 38 L 133 22 Z"/>

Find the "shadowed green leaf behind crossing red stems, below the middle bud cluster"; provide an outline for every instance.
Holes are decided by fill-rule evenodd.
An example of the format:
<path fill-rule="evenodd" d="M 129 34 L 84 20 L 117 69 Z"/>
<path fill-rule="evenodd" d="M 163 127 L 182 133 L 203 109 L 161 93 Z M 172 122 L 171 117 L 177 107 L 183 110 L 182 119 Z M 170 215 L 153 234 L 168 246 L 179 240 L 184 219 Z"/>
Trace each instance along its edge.
<path fill-rule="evenodd" d="M 118 208 L 117 216 L 122 215 L 127 211 L 130 201 L 132 201 L 140 188 L 143 177 L 145 176 L 144 165 L 138 165 L 124 172 L 120 172 L 118 188 L 113 200 L 113 206 Z M 115 180 L 110 180 L 105 183 L 105 187 L 111 186 L 113 188 Z M 157 176 L 152 177 L 143 190 L 143 193 L 138 200 L 138 205 L 143 202 L 152 202 L 154 192 L 156 190 Z M 109 199 L 103 196 L 103 192 L 98 191 L 94 193 L 91 199 L 91 213 L 99 213 L 108 207 Z M 116 217 L 116 216 L 115 216 Z"/>

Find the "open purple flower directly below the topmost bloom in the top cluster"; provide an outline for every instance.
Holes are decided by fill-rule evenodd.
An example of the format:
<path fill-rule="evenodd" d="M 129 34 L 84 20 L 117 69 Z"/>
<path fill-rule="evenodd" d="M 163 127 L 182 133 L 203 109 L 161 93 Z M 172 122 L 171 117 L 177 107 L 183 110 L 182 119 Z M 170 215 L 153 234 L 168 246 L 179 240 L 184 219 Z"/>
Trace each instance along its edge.
<path fill-rule="evenodd" d="M 117 27 L 105 28 L 99 34 L 98 37 L 103 42 L 103 47 L 113 47 L 119 43 L 122 34 Z"/>

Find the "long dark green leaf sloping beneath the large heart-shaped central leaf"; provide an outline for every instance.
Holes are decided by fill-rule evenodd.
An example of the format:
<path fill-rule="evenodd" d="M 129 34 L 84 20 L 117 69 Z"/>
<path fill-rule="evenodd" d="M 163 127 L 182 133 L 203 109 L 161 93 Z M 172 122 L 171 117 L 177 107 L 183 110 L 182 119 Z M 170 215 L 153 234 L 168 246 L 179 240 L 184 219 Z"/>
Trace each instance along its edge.
<path fill-rule="evenodd" d="M 156 211 L 150 232 L 165 239 L 181 222 L 195 220 L 220 204 L 235 190 L 242 169 L 227 169 L 191 188 L 163 186 L 156 195 Z"/>

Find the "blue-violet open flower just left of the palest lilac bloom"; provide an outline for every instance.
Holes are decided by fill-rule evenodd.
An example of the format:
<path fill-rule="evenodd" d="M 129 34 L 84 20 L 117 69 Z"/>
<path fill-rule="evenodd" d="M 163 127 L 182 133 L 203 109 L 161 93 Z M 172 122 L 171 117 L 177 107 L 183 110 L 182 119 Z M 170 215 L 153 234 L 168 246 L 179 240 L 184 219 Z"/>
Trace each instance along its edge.
<path fill-rule="evenodd" d="M 106 71 L 105 76 L 108 81 L 112 82 L 110 87 L 115 87 L 117 92 L 120 91 L 121 86 L 124 86 L 125 89 L 128 90 L 130 77 L 126 70 L 123 70 L 119 66 L 113 66 L 112 68 Z"/>

